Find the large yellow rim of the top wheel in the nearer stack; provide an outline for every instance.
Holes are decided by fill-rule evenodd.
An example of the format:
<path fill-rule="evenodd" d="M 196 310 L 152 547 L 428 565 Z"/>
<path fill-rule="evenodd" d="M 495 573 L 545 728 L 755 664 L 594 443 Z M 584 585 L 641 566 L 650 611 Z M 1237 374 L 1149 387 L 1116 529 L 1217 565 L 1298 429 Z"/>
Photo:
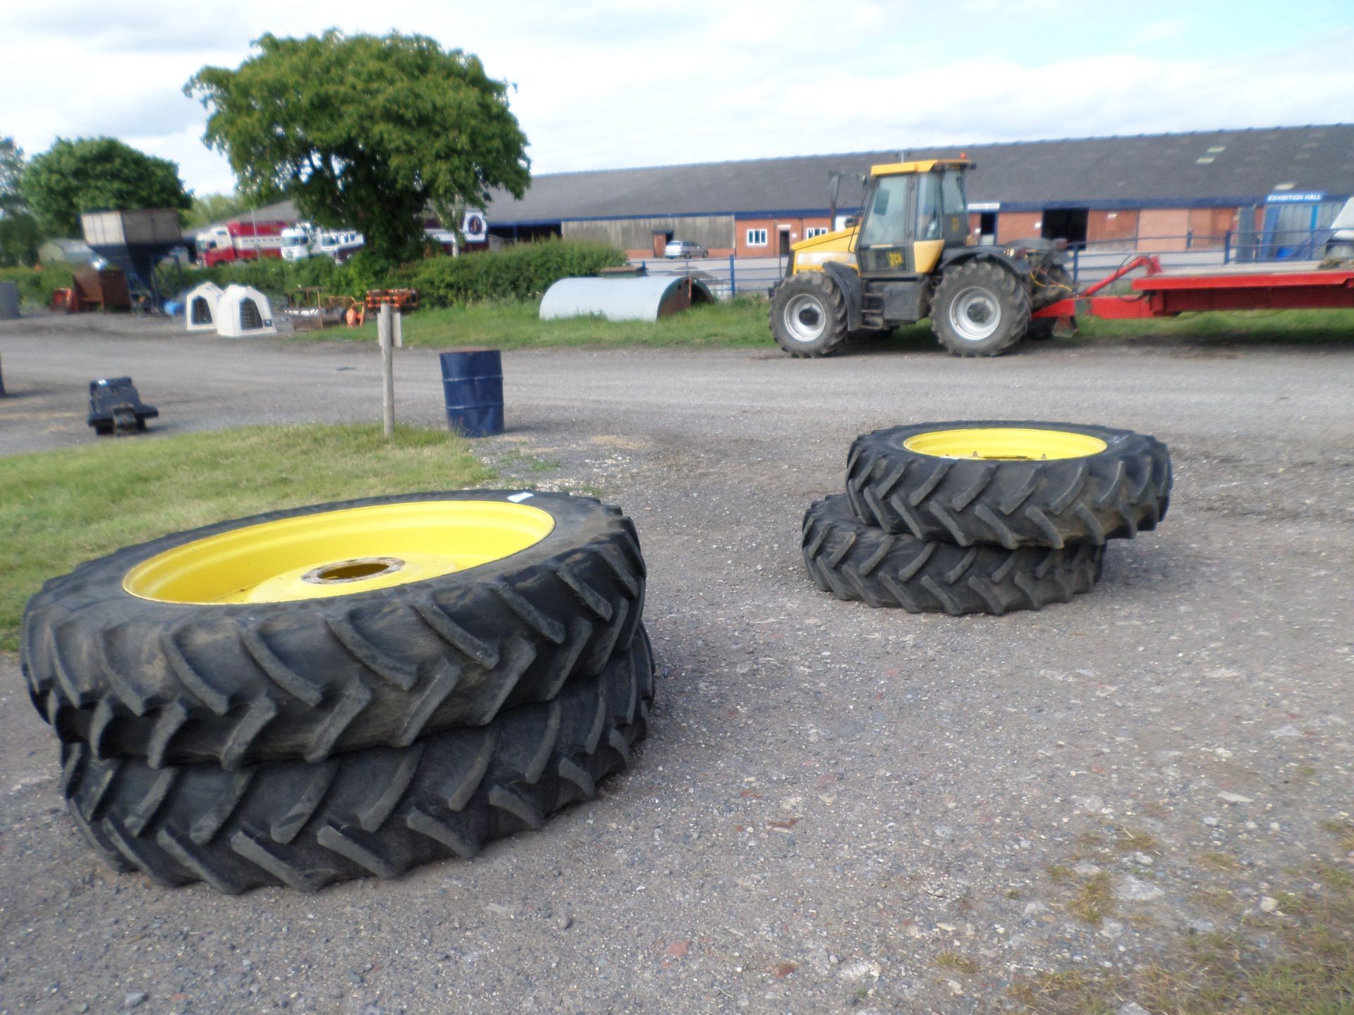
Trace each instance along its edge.
<path fill-rule="evenodd" d="M 325 600 L 464 571 L 555 528 L 501 501 L 405 501 L 279 518 L 207 536 L 137 564 L 122 587 L 160 602 Z"/>

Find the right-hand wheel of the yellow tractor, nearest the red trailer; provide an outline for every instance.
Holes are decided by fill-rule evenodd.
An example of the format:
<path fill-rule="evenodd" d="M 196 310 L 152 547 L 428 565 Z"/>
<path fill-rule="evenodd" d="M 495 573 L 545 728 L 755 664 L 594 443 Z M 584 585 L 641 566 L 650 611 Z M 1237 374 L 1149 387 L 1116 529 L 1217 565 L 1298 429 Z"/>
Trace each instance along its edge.
<path fill-rule="evenodd" d="M 998 356 L 1029 328 L 1029 288 L 994 261 L 946 271 L 932 299 L 932 330 L 956 356 Z"/>

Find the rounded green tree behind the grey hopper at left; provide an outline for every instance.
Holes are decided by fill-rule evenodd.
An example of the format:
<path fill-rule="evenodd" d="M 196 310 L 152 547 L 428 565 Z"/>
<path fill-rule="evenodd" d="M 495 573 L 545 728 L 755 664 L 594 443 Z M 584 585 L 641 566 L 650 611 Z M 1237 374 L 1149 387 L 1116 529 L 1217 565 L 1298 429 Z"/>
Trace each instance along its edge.
<path fill-rule="evenodd" d="M 192 207 L 177 164 L 115 138 L 57 138 L 28 164 L 22 187 L 38 223 L 53 235 L 79 235 L 81 211 Z"/>

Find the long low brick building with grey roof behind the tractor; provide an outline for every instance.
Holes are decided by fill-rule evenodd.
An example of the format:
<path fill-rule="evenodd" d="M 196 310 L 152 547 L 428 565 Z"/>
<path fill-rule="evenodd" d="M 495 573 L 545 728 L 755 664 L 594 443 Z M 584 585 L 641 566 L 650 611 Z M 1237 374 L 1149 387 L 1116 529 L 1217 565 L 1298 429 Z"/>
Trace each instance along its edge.
<path fill-rule="evenodd" d="M 615 244 L 631 256 L 693 240 L 712 256 L 774 256 L 854 211 L 876 162 L 967 154 L 975 240 L 1045 235 L 1098 248 L 1216 248 L 1238 233 L 1330 222 L 1354 194 L 1354 125 L 1033 141 L 546 173 L 497 198 L 490 231 Z"/>

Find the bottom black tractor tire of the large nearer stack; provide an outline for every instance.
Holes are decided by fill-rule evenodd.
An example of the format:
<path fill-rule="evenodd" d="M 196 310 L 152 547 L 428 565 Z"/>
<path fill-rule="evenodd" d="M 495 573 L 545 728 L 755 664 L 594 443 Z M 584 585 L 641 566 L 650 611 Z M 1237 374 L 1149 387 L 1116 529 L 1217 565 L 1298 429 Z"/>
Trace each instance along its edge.
<path fill-rule="evenodd" d="M 288 885 L 314 892 L 356 877 L 399 877 L 597 794 L 630 762 L 654 693 L 649 637 L 601 674 L 546 702 L 408 747 L 368 747 L 309 763 L 226 771 L 153 769 L 64 744 L 62 792 L 76 826 L 115 869 L 218 892 Z"/>

